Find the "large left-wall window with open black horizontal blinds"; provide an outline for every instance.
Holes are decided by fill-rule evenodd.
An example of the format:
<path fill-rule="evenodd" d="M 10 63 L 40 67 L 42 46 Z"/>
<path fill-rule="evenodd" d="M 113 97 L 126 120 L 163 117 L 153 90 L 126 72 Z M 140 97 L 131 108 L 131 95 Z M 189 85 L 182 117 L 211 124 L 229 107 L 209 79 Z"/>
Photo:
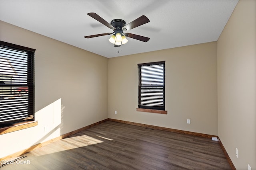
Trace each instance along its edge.
<path fill-rule="evenodd" d="M 34 52 L 0 41 L 0 127 L 34 121 Z"/>

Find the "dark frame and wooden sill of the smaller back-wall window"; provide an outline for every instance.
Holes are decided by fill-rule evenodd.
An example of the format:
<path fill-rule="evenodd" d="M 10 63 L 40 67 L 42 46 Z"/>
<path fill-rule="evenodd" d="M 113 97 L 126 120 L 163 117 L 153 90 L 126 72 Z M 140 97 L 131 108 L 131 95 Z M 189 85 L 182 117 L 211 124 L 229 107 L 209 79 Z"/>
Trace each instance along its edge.
<path fill-rule="evenodd" d="M 143 66 L 156 66 L 156 65 L 162 65 L 163 66 L 163 75 L 162 75 L 162 85 L 150 85 L 150 86 L 144 86 L 142 85 L 142 72 L 141 67 Z M 154 68 L 152 68 L 154 70 Z M 153 78 L 153 77 L 152 77 Z M 161 106 L 144 106 L 142 104 L 142 88 L 146 87 L 154 87 L 154 88 L 162 88 L 163 90 L 163 96 L 162 96 L 162 105 Z M 153 104 L 154 105 L 154 104 Z M 165 111 L 165 61 L 159 61 L 159 62 L 152 62 L 152 63 L 142 63 L 138 64 L 138 108 L 137 111 L 144 111 L 144 112 L 151 112 L 151 113 L 161 113 L 161 114 L 167 114 L 167 111 Z"/>

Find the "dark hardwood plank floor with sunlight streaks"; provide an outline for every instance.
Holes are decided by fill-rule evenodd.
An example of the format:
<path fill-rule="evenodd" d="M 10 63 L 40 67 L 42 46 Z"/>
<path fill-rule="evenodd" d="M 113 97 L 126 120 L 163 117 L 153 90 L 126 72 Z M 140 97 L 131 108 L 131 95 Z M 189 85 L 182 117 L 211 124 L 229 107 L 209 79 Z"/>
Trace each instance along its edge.
<path fill-rule="evenodd" d="M 112 121 L 25 156 L 0 170 L 231 169 L 217 141 Z"/>

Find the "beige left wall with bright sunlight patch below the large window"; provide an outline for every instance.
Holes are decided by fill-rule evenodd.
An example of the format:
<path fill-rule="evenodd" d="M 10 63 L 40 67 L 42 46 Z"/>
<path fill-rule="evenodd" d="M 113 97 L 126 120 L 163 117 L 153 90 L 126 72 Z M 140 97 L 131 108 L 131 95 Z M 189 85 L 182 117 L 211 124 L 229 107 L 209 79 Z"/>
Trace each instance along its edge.
<path fill-rule="evenodd" d="M 0 158 L 108 118 L 107 58 L 2 21 L 0 40 L 36 49 L 38 120 L 36 127 L 0 135 Z"/>

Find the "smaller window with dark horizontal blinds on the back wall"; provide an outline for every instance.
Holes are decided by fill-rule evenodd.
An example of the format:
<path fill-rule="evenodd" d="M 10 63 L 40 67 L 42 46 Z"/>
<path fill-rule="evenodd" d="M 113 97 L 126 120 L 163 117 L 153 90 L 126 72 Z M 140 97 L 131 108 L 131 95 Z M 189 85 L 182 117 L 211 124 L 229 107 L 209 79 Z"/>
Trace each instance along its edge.
<path fill-rule="evenodd" d="M 138 108 L 165 110 L 164 63 L 138 64 Z"/>

